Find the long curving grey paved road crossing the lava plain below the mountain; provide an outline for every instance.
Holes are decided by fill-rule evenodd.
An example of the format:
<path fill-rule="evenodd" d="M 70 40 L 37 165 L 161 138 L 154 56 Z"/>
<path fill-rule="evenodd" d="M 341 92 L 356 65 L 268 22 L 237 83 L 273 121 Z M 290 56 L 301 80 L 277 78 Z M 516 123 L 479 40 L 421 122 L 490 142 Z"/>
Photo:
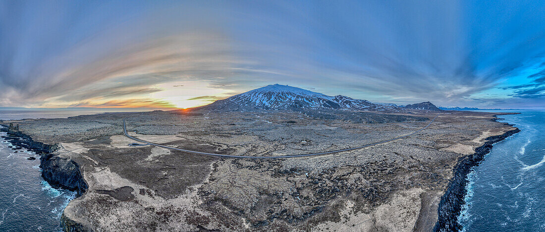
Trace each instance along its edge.
<path fill-rule="evenodd" d="M 172 150 L 178 150 L 178 151 L 184 151 L 184 152 L 187 152 L 187 153 L 191 153 L 191 154 L 198 154 L 198 155 L 209 155 L 209 156 L 216 156 L 216 157 L 224 157 L 224 158 L 293 158 L 293 157 L 304 157 L 304 156 L 317 156 L 317 155 L 326 155 L 326 154 L 333 154 L 333 153 L 337 153 L 337 152 L 342 152 L 342 151 L 352 151 L 352 150 L 356 150 L 356 149 L 361 149 L 361 148 L 366 148 L 368 146 L 374 146 L 374 145 L 378 145 L 378 144 L 381 144 L 381 143 L 387 143 L 387 142 L 391 142 L 391 141 L 395 141 L 397 139 L 401 139 L 401 138 L 404 138 L 404 137 L 407 137 L 407 136 L 410 136 L 410 135 L 414 135 L 415 133 L 418 133 L 424 129 L 426 129 L 429 125 L 431 125 L 433 123 L 433 121 L 435 121 L 435 119 L 439 117 L 439 115 L 435 116 L 435 118 L 433 118 L 432 121 L 430 121 L 428 123 L 428 125 L 426 125 L 425 127 L 422 127 L 422 129 L 420 130 L 417 130 L 413 133 L 409 133 L 407 135 L 404 135 L 404 136 L 399 136 L 399 137 L 395 137 L 395 138 L 392 138 L 392 139 L 388 139 L 388 140 L 385 140 L 385 141 L 380 141 L 380 142 L 376 142 L 376 143 L 370 143 L 370 144 L 365 144 L 365 145 L 362 145 L 362 146 L 357 146 L 355 148 L 346 148 L 346 149 L 341 149 L 341 150 L 334 150 L 334 151 L 324 151 L 324 152 L 318 152 L 318 153 L 311 153 L 311 154 L 300 154 L 300 155 L 284 155 L 284 156 L 242 156 L 242 155 L 222 155 L 222 154 L 215 154 L 215 153 L 208 153 L 208 152 L 201 152 L 201 151 L 192 151 L 192 150 L 185 150 L 185 149 L 180 149 L 180 148 L 173 148 L 171 146 L 165 146 L 165 145 L 161 145 L 161 144 L 156 144 L 156 143 L 152 143 L 152 142 L 148 142 L 148 141 L 143 141 L 142 139 L 137 139 L 135 137 L 132 137 L 130 136 L 128 133 L 127 133 L 127 127 L 125 125 L 125 119 L 123 119 L 123 132 L 125 133 L 125 136 L 126 137 L 129 137 L 131 139 L 134 139 L 135 141 L 138 141 L 138 142 L 141 142 L 141 143 L 144 143 L 144 145 L 154 145 L 154 146 L 160 146 L 161 148 L 167 148 L 167 149 L 172 149 Z"/>

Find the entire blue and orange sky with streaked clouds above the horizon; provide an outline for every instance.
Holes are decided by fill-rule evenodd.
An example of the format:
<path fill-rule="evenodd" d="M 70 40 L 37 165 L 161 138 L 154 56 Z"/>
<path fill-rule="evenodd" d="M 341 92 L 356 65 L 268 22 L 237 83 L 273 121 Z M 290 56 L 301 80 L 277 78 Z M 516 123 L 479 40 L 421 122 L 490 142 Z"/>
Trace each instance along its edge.
<path fill-rule="evenodd" d="M 545 108 L 545 1 L 0 1 L 0 107 L 187 108 L 268 84 Z"/>

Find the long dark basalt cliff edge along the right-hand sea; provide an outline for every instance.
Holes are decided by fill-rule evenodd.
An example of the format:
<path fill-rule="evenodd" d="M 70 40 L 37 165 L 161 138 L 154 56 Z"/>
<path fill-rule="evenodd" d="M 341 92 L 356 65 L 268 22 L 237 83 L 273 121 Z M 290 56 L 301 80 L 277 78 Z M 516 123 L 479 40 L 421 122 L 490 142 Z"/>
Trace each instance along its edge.
<path fill-rule="evenodd" d="M 438 208 L 438 221 L 435 223 L 433 231 L 460 231 L 462 225 L 458 223 L 458 215 L 462 211 L 462 205 L 465 204 L 464 197 L 467 194 L 465 186 L 468 183 L 468 174 L 471 168 L 479 166 L 485 155 L 492 149 L 492 144 L 502 141 L 503 139 L 518 133 L 520 130 L 515 129 L 505 132 L 503 135 L 490 136 L 486 138 L 485 145 L 475 149 L 475 153 L 467 155 L 460 160 L 454 169 L 454 176 L 450 180 L 449 188 L 441 197 L 441 202 Z"/>

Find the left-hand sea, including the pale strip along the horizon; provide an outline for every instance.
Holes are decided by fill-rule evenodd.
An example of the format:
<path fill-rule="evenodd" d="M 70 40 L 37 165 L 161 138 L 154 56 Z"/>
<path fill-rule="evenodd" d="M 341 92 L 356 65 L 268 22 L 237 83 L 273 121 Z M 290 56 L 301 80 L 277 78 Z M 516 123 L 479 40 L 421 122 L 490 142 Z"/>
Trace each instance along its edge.
<path fill-rule="evenodd" d="M 0 111 L 0 119 L 67 118 L 96 111 Z M 5 136 L 0 132 L 0 136 Z M 60 216 L 75 192 L 57 190 L 41 178 L 40 156 L 12 150 L 0 138 L 0 231 L 60 231 Z M 16 152 L 17 151 L 17 152 Z M 28 157 L 36 160 L 27 160 Z"/>

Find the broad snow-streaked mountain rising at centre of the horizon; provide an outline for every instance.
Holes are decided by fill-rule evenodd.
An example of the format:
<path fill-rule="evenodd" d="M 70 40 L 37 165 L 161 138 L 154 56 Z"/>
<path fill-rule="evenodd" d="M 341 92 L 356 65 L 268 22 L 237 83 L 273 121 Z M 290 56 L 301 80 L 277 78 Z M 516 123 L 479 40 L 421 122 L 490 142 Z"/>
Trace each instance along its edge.
<path fill-rule="evenodd" d="M 331 108 L 331 109 L 374 109 L 375 105 L 366 100 L 347 96 L 328 96 L 310 90 L 271 84 L 247 91 L 227 99 L 217 100 L 202 108 L 208 109 L 287 109 L 287 108 Z"/>

